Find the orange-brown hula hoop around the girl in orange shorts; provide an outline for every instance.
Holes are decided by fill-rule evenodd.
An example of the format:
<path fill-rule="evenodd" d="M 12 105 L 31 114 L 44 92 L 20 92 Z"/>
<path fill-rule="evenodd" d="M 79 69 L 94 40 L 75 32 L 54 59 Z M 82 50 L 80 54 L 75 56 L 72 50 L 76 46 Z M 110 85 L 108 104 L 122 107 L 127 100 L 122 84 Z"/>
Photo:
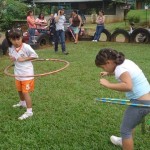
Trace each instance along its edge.
<path fill-rule="evenodd" d="M 68 61 L 65 61 L 65 60 L 60 60 L 60 59 L 35 59 L 33 60 L 34 61 L 55 61 L 55 62 L 63 62 L 65 64 L 64 67 L 60 68 L 60 69 L 57 69 L 57 70 L 54 70 L 54 71 L 50 71 L 50 72 L 47 72 L 47 73 L 42 73 L 42 74 L 36 74 L 36 75 L 32 75 L 32 76 L 25 76 L 25 75 L 21 75 L 21 76 L 18 76 L 18 75 L 13 75 L 11 73 L 8 72 L 8 70 L 14 66 L 14 64 L 11 64 L 9 66 L 7 66 L 4 70 L 4 73 L 7 75 L 7 76 L 10 76 L 10 77 L 22 77 L 22 78 L 26 78 L 26 77 L 40 77 L 40 76 L 46 76 L 46 75 L 50 75 L 50 74 L 55 74 L 57 72 L 60 72 L 64 69 L 66 69 L 68 66 L 69 66 L 69 62 Z"/>

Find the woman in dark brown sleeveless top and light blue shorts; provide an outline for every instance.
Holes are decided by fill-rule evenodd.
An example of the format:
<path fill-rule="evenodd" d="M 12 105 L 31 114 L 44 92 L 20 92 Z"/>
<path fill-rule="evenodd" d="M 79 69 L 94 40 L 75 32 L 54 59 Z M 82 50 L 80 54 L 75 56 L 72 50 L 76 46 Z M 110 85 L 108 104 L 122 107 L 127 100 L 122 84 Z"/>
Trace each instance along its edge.
<path fill-rule="evenodd" d="M 82 24 L 82 19 L 81 17 L 78 15 L 77 10 L 73 10 L 72 11 L 72 19 L 70 19 L 71 21 L 71 28 L 75 34 L 75 44 L 78 43 L 78 39 L 79 39 L 79 31 L 81 29 L 81 24 Z"/>

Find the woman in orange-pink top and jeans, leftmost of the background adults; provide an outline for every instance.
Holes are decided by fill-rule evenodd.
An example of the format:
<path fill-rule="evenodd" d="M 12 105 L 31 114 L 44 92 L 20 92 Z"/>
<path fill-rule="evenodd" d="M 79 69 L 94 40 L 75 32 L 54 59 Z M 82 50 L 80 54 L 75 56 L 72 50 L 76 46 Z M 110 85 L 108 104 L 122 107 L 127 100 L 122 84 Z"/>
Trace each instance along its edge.
<path fill-rule="evenodd" d="M 28 33 L 29 33 L 29 44 L 32 42 L 32 37 L 35 36 L 36 22 L 33 16 L 33 11 L 29 10 L 27 12 L 27 23 L 28 23 Z"/>

